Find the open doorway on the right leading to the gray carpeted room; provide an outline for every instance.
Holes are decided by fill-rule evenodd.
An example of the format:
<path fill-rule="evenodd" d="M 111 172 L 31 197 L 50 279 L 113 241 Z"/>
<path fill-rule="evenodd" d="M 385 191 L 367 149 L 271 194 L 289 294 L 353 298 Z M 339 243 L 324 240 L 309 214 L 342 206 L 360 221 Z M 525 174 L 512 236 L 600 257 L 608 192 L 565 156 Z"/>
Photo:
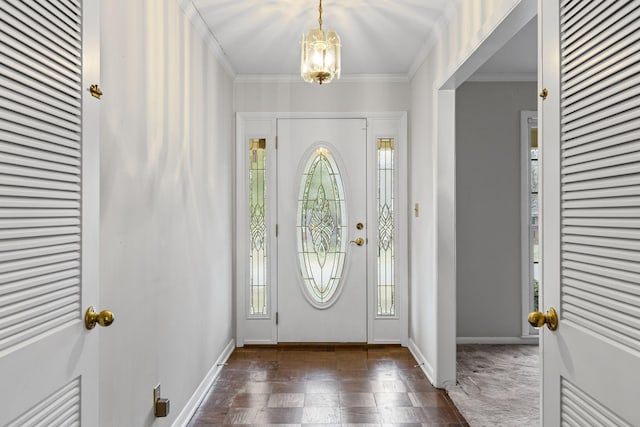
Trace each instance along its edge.
<path fill-rule="evenodd" d="M 527 307 L 531 301 L 528 284 L 523 295 L 521 241 L 523 227 L 530 226 L 522 221 L 522 200 L 529 200 L 530 216 L 532 194 L 530 183 L 524 186 L 521 179 L 528 173 L 522 169 L 521 112 L 538 106 L 533 6 L 516 8 L 491 42 L 481 45 L 438 92 L 438 135 L 445 136 L 438 141 L 438 176 L 453 183 L 447 190 L 455 200 L 453 207 L 440 206 L 438 212 L 453 210 L 455 222 L 444 232 L 456 242 L 451 258 L 438 261 L 438 275 L 448 273 L 456 289 L 457 330 L 451 347 L 445 343 L 446 360 L 451 361 L 445 374 L 451 372 L 452 380 L 443 383 L 471 424 L 534 425 L 539 416 L 539 406 L 532 404 L 539 399 L 539 385 L 531 386 L 539 384 L 539 354 L 537 346 L 527 345 L 537 344 L 538 337 L 523 328 L 528 314 L 523 301 Z M 509 62 L 514 54 L 526 58 Z M 532 69 L 523 69 L 526 64 Z M 528 265 L 528 246 L 526 250 Z M 483 365 L 474 365 L 474 358 Z M 519 365 L 522 360 L 526 364 Z M 529 399 L 511 399 L 525 396 L 525 388 Z M 504 411 L 496 402 L 483 401 L 492 390 L 510 397 L 504 399 L 509 401 Z M 509 418 L 513 416 L 518 422 Z"/>

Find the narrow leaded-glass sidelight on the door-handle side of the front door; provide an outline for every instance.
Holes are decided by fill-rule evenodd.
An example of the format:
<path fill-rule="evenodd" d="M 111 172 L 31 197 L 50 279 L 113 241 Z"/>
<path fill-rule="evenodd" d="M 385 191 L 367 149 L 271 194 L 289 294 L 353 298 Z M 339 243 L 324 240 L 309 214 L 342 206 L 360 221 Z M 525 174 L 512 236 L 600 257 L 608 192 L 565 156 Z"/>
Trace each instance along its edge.
<path fill-rule="evenodd" d="M 394 139 L 378 138 L 377 315 L 396 315 Z"/>

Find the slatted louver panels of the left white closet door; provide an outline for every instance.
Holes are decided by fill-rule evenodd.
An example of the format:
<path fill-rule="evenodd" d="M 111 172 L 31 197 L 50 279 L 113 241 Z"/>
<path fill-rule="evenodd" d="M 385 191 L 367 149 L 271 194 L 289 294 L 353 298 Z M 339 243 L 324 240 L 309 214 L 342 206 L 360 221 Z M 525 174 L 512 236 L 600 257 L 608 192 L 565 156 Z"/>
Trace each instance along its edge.
<path fill-rule="evenodd" d="M 80 317 L 81 30 L 79 1 L 0 3 L 0 354 Z M 77 424 L 79 388 L 15 425 Z"/>

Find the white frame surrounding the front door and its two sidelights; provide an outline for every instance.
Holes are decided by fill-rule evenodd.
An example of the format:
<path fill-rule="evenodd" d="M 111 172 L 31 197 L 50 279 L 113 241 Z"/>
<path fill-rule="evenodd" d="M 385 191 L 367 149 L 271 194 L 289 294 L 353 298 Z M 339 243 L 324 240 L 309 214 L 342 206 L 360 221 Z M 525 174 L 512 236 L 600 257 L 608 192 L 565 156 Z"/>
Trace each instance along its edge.
<path fill-rule="evenodd" d="M 275 194 L 276 181 L 275 174 L 269 173 L 269 170 L 276 170 L 275 163 L 275 144 L 276 144 L 276 124 L 278 119 L 285 118 L 304 118 L 304 119 L 344 119 L 344 118 L 360 118 L 367 120 L 367 162 L 369 168 L 367 171 L 368 181 L 374 177 L 371 170 L 373 157 L 372 147 L 375 147 L 377 138 L 395 138 L 397 143 L 397 182 L 398 182 L 398 210 L 397 218 L 400 220 L 396 224 L 397 237 L 397 307 L 398 315 L 393 318 L 381 318 L 375 316 L 374 313 L 374 289 L 373 280 L 367 283 L 367 342 L 368 343 L 397 343 L 403 346 L 409 342 L 409 301 L 408 301 L 408 251 L 407 251 L 407 229 L 408 229 L 408 210 L 407 210 L 407 113 L 406 112 L 384 112 L 384 113 L 237 113 L 236 114 L 236 224 L 235 224 L 235 241 L 236 241 L 236 278 L 235 278 L 235 299 L 236 299 L 236 344 L 242 347 L 245 344 L 275 344 L 277 343 L 277 325 L 276 325 L 276 308 L 277 308 L 277 274 L 276 274 L 276 257 L 273 256 L 277 245 L 275 244 L 275 216 L 276 199 L 268 198 L 267 209 L 267 251 L 269 257 L 269 278 L 270 291 L 268 301 L 270 304 L 269 313 L 265 316 L 251 317 L 248 316 L 247 292 L 246 284 L 248 283 L 247 260 L 249 258 L 248 246 L 245 242 L 249 239 L 248 229 L 248 201 L 245 195 L 249 191 L 249 182 L 247 179 L 247 142 L 250 138 L 265 138 L 267 145 L 267 194 Z M 371 193 L 370 193 L 371 194 Z M 375 201 L 375 199 L 374 199 Z M 373 201 L 373 202 L 374 202 Z M 376 218 L 369 203 L 367 222 L 375 223 Z M 372 222 L 373 221 L 373 222 Z M 368 245 L 369 259 L 375 259 L 375 245 Z M 367 275 L 375 277 L 375 265 L 369 263 L 367 266 Z"/>

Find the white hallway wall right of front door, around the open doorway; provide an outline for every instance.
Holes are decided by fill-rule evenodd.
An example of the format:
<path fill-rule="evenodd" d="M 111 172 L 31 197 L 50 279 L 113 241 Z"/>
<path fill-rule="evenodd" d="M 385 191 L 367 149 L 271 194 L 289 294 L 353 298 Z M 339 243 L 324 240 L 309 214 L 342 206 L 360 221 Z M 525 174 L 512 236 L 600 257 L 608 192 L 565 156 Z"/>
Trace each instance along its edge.
<path fill-rule="evenodd" d="M 438 146 L 438 110 L 455 108 L 439 89 L 521 2 L 462 0 L 435 30 L 411 79 L 409 203 L 421 215 L 409 221 L 411 346 L 439 387 L 455 381 L 455 147 Z M 501 46 L 492 46 L 497 51 Z M 478 63 L 479 67 L 481 63 Z M 447 92 L 447 91 L 443 91 Z M 452 92 L 452 91 L 449 91 Z M 440 103 L 440 101 L 446 101 Z M 447 268 L 443 269 L 442 266 Z M 445 271 L 446 270 L 446 271 Z M 449 271 L 452 270 L 452 271 Z M 454 277 L 450 277 L 453 274 Z"/>

